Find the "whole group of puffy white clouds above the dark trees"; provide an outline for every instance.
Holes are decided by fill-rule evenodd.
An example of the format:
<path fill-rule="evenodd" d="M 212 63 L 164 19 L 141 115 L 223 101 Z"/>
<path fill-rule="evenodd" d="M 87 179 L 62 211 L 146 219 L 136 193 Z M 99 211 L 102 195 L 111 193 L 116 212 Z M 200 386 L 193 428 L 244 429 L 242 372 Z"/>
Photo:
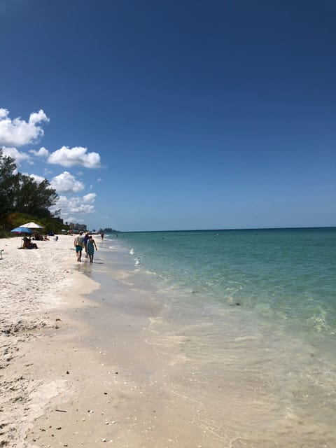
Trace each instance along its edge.
<path fill-rule="evenodd" d="M 49 122 L 50 118 L 46 116 L 43 109 L 40 109 L 37 113 L 31 113 L 29 120 L 25 121 L 21 117 L 12 120 L 9 111 L 0 108 L 0 146 L 3 149 L 3 155 L 14 158 L 18 167 L 23 162 L 31 166 L 40 165 L 43 162 L 47 165 L 59 165 L 68 169 L 71 167 L 87 169 L 101 167 L 99 153 L 89 153 L 87 148 L 83 146 L 73 148 L 62 146 L 53 152 L 41 146 L 39 149 L 24 151 L 22 146 L 37 144 L 41 140 L 44 135 L 43 124 Z M 44 171 L 45 174 L 50 173 L 48 169 Z M 31 176 L 36 182 L 41 182 L 46 177 L 27 172 L 24 174 Z M 78 175 L 80 174 L 83 173 L 78 173 Z M 59 195 L 57 204 L 50 210 L 60 209 L 60 216 L 64 221 L 83 222 L 83 215 L 94 213 L 96 193 L 90 192 L 83 196 L 76 195 L 85 190 L 83 181 L 77 179 L 69 171 L 61 172 L 48 180 Z M 101 181 L 100 178 L 97 179 L 97 182 L 99 181 Z M 92 190 L 92 185 L 87 189 Z"/>

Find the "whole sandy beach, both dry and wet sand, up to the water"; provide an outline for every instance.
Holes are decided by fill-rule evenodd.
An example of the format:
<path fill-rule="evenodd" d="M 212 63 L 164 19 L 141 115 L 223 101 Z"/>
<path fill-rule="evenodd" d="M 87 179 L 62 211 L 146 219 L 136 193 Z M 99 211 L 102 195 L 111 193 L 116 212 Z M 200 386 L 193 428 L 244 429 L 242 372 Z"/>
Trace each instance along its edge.
<path fill-rule="evenodd" d="M 194 447 L 195 433 L 200 440 L 204 428 L 190 432 L 188 402 L 165 384 L 175 353 L 162 356 L 146 341 L 160 299 L 148 300 L 148 290 L 133 289 L 118 277 L 121 271 L 107 283 L 93 280 L 99 269 L 106 275 L 99 266 L 103 251 L 95 254 L 95 269 L 78 263 L 73 237 L 38 241 L 37 250 L 18 250 L 19 238 L 0 245 L 0 444 L 140 448 L 183 440 Z"/>

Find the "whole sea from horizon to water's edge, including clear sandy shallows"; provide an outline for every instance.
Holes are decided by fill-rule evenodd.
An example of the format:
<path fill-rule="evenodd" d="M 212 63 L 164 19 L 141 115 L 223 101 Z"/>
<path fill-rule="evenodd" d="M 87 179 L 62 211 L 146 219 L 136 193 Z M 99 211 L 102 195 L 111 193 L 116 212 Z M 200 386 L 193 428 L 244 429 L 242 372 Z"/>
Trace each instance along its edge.
<path fill-rule="evenodd" d="M 210 435 L 199 446 L 336 447 L 336 228 L 120 232 L 100 246 L 105 274 L 118 263 L 162 304 L 146 341 Z"/>

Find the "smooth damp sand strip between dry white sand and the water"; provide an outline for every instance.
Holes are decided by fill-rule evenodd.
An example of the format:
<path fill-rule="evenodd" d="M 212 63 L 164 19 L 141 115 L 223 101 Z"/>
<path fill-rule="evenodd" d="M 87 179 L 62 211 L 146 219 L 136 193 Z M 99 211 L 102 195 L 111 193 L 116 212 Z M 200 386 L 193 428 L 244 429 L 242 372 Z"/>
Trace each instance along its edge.
<path fill-rule="evenodd" d="M 160 299 L 150 297 L 146 288 L 132 288 L 123 269 L 106 274 L 103 267 L 99 273 L 104 265 L 99 253 L 92 276 L 102 283 L 90 293 L 89 306 L 66 313 L 71 328 L 66 325 L 48 339 L 48 375 L 68 387 L 34 420 L 23 447 L 195 447 L 195 433 L 201 440 L 204 427 L 194 421 L 197 428 L 190 431 L 188 402 L 166 384 L 167 363 L 174 365 L 175 351 L 167 349 L 162 356 L 146 340 L 151 318 L 160 315 Z M 88 273 L 86 267 L 78 265 Z M 45 344 L 37 341 L 33 351 L 39 346 Z"/>

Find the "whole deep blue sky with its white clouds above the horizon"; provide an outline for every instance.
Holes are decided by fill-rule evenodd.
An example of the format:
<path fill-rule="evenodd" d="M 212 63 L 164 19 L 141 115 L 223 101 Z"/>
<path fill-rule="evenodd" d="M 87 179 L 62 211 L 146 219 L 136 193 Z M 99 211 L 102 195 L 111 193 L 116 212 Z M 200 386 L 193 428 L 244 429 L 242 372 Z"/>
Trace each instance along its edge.
<path fill-rule="evenodd" d="M 0 0 L 0 147 L 65 222 L 336 225 L 335 0 Z"/>

